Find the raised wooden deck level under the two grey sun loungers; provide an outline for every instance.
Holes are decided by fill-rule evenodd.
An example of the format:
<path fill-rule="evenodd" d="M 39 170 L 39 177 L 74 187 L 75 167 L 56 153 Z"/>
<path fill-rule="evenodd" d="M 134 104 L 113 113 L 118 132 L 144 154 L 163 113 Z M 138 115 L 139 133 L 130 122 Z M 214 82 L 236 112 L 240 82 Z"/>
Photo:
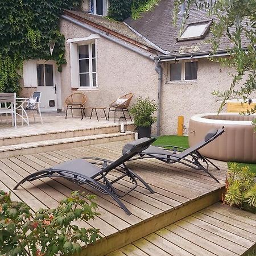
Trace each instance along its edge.
<path fill-rule="evenodd" d="M 220 184 L 203 171 L 192 170 L 180 164 L 167 165 L 152 159 L 129 163 L 129 167 L 155 191 L 150 194 L 139 184 L 135 191 L 123 197 L 122 201 L 131 211 L 131 216 L 119 208 L 109 196 L 65 179 L 45 178 L 26 182 L 13 191 L 13 187 L 22 177 L 69 159 L 82 156 L 117 159 L 121 155 L 123 144 L 124 141 L 111 142 L 0 159 L 0 189 L 12 191 L 13 199 L 25 201 L 34 210 L 40 207 L 57 207 L 58 202 L 69 196 L 71 191 L 88 189 L 98 195 L 98 211 L 101 215 L 95 221 L 80 222 L 79 225 L 99 228 L 102 240 L 88 246 L 82 255 L 110 253 L 221 199 L 227 166 L 226 163 L 217 161 L 214 162 L 221 170 L 211 172 L 221 181 Z M 112 175 L 114 177 L 115 173 Z M 128 185 L 128 181 L 120 181 L 117 188 L 125 191 Z"/>

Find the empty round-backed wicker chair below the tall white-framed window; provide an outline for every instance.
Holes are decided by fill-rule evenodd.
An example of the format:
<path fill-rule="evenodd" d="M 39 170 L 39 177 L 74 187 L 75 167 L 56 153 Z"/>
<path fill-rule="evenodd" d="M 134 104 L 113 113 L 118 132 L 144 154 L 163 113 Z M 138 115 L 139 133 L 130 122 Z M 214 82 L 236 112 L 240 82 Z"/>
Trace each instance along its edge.
<path fill-rule="evenodd" d="M 71 116 L 73 117 L 73 109 L 80 109 L 81 110 L 81 116 L 83 117 L 83 106 L 86 102 L 87 98 L 84 94 L 82 93 L 73 93 L 69 95 L 66 100 L 65 104 L 67 105 L 66 108 L 66 119 L 67 119 L 67 114 L 68 114 L 68 109 L 71 109 Z"/>

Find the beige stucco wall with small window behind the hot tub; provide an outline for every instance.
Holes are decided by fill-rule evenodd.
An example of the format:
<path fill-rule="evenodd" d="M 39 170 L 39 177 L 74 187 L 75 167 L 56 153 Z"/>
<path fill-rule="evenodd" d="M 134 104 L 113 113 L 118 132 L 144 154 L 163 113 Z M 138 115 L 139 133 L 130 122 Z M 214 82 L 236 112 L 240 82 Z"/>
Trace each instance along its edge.
<path fill-rule="evenodd" d="M 207 59 L 199 59 L 196 82 L 167 82 L 168 65 L 164 66 L 164 82 L 162 88 L 162 122 L 161 134 L 177 134 L 177 118 L 184 116 L 185 133 L 192 115 L 216 112 L 220 106 L 220 98 L 213 96 L 213 90 L 229 88 L 232 77 L 231 68 L 221 67 Z M 241 82 L 242 84 L 242 82 Z M 251 95 L 255 97 L 254 95 Z M 225 109 L 224 109 L 225 110 Z"/>

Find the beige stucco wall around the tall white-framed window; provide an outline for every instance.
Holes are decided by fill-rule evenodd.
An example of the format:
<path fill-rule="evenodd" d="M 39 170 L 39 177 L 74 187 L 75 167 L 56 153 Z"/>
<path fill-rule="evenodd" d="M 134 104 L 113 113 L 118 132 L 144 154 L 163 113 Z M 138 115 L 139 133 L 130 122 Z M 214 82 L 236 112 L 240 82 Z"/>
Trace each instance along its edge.
<path fill-rule="evenodd" d="M 66 20 L 61 20 L 60 31 L 64 34 L 66 42 L 67 39 L 93 34 Z M 69 43 L 66 43 L 67 64 L 63 65 L 61 72 L 63 103 L 65 98 L 74 92 L 84 93 L 88 99 L 86 103 L 88 106 L 108 107 L 115 99 L 130 92 L 134 94 L 131 104 L 139 96 L 157 100 L 158 74 L 154 70 L 154 61 L 102 37 L 97 39 L 96 47 L 98 90 L 74 91 L 71 89 Z M 63 105 L 63 110 L 64 108 Z M 87 113 L 89 114 L 89 110 Z"/>

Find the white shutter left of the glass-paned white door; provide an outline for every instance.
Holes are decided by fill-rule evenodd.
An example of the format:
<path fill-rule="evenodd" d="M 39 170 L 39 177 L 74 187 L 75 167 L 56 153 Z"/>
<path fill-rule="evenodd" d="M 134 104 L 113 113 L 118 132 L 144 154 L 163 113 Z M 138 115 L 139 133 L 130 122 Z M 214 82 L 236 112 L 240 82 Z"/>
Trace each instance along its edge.
<path fill-rule="evenodd" d="M 23 62 L 23 86 L 24 87 L 38 86 L 36 60 L 25 60 Z"/>

